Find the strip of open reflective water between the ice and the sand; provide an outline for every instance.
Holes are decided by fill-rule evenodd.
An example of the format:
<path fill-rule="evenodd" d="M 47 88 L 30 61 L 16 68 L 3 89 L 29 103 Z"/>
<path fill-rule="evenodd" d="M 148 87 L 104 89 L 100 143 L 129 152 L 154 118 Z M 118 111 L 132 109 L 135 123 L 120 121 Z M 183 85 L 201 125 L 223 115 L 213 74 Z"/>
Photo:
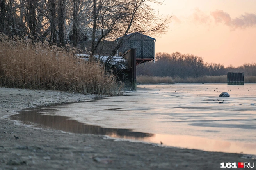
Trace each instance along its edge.
<path fill-rule="evenodd" d="M 65 108 L 65 106 L 62 106 L 62 108 Z M 52 115 L 47 115 L 45 114 L 46 112 L 49 112 Z M 72 133 L 108 135 L 115 138 L 132 139 L 158 144 L 162 142 L 165 146 L 186 147 L 188 149 L 201 149 L 205 151 L 256 154 L 256 144 L 219 141 L 189 135 L 150 134 L 133 132 L 129 129 L 102 128 L 100 126 L 85 125 L 76 120 L 71 120 L 71 118 L 67 116 L 53 116 L 53 114 L 56 113 L 57 109 L 53 108 L 27 110 L 12 115 L 11 119 L 22 121 L 27 124 L 36 123 L 39 127 L 40 125 L 43 125 L 44 127 Z M 206 130 L 206 132 L 208 131 Z"/>

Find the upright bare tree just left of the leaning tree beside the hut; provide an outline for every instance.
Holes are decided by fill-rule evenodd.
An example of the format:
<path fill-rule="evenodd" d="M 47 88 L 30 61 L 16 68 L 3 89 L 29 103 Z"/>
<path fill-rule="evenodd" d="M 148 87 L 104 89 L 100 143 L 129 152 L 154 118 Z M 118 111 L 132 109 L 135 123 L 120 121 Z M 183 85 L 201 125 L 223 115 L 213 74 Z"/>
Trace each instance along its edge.
<path fill-rule="evenodd" d="M 88 27 L 92 27 L 90 60 L 100 43 L 118 38 L 115 34 L 121 29 L 121 23 L 128 15 L 127 5 L 124 0 L 94 0 L 92 22 L 88 23 Z"/>

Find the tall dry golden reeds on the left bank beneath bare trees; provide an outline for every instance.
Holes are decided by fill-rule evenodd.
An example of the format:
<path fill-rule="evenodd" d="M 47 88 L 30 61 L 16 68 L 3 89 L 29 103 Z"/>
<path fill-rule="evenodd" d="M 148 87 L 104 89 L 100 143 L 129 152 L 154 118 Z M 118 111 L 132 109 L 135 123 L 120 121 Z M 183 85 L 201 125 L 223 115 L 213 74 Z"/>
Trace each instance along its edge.
<path fill-rule="evenodd" d="M 119 95 L 114 75 L 98 62 L 77 59 L 72 52 L 20 37 L 0 34 L 0 85 L 29 89 Z"/>

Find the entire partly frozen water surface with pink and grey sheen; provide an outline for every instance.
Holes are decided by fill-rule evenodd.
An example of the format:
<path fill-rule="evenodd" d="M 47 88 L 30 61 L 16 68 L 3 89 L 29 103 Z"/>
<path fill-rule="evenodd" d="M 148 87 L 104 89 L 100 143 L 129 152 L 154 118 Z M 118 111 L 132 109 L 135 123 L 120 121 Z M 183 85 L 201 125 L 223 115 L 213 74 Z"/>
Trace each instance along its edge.
<path fill-rule="evenodd" d="M 23 112 L 23 116 L 15 119 L 45 126 L 50 123 L 52 128 L 68 132 L 162 142 L 205 151 L 256 154 L 256 85 L 137 87 L 137 92 L 128 92 L 128 96 L 40 108 L 36 113 Z M 218 97 L 221 92 L 228 92 L 231 97 Z M 41 117 L 31 119 L 32 114 Z M 63 121 L 53 121 L 62 116 L 65 116 Z"/>

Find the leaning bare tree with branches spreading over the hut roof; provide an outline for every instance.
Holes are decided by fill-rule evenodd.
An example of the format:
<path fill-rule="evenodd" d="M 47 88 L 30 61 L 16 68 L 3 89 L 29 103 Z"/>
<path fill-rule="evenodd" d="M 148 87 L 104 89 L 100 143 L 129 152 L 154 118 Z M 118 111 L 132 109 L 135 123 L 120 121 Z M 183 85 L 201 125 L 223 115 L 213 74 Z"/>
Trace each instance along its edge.
<path fill-rule="evenodd" d="M 149 3 L 163 5 L 163 2 L 158 0 L 126 0 L 126 17 L 123 17 L 121 22 L 121 29 L 115 30 L 115 35 L 121 35 L 116 47 L 113 49 L 110 56 L 108 56 L 105 66 L 107 66 L 116 54 L 117 50 L 123 45 L 126 35 L 129 33 L 139 32 L 146 35 L 159 35 L 166 33 L 169 16 L 162 17 L 155 14 L 154 9 Z"/>

